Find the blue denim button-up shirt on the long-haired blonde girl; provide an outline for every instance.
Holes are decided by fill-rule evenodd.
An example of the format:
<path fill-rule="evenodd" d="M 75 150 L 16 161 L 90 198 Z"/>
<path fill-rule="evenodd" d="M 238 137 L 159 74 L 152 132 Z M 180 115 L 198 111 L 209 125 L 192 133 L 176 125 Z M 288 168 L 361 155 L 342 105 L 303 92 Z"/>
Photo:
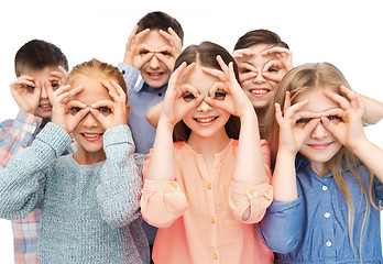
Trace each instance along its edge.
<path fill-rule="evenodd" d="M 369 170 L 359 165 L 364 188 L 369 189 Z M 353 248 L 348 229 L 348 209 L 331 173 L 320 177 L 310 162 L 296 160 L 298 199 L 274 200 L 260 223 L 265 244 L 277 253 L 277 263 L 383 263 L 380 212 L 369 204 L 360 248 L 360 232 L 365 202 L 359 184 L 348 168 L 342 169 L 354 206 Z M 374 179 L 373 200 L 383 199 L 383 185 Z M 360 254 L 361 253 L 361 254 Z"/>

